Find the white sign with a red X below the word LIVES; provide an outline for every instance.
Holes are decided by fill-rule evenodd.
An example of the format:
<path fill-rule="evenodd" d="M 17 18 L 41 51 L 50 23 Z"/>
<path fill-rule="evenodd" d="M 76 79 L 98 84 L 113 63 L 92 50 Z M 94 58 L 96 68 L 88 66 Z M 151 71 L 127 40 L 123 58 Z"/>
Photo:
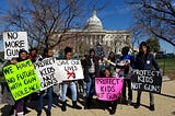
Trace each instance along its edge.
<path fill-rule="evenodd" d="M 62 81 L 84 79 L 80 60 L 57 60 L 57 66 Z"/>

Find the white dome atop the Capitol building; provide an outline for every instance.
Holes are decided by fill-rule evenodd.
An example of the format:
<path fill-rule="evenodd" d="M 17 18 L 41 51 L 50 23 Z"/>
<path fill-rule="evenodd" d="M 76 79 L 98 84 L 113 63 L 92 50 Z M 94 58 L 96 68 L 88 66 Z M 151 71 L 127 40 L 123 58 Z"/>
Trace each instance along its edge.
<path fill-rule="evenodd" d="M 102 22 L 96 16 L 96 11 L 95 10 L 93 11 L 92 18 L 90 18 L 88 20 L 84 30 L 88 30 L 88 31 L 102 31 L 103 30 Z"/>

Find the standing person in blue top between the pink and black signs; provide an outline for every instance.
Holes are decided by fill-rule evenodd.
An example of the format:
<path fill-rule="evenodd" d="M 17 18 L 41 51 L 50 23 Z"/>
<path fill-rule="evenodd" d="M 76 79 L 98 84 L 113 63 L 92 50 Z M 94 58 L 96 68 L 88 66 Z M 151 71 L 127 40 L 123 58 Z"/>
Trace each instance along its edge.
<path fill-rule="evenodd" d="M 131 55 L 128 55 L 129 53 L 129 47 L 122 47 L 121 54 L 122 56 L 119 57 L 119 60 L 129 60 L 130 63 L 127 63 L 124 66 L 124 86 L 122 86 L 122 103 L 127 103 L 127 96 L 126 96 L 126 88 L 128 86 L 128 105 L 131 105 L 132 101 L 132 90 L 131 90 L 131 80 L 130 77 L 128 77 L 130 67 L 135 67 L 135 58 Z"/>

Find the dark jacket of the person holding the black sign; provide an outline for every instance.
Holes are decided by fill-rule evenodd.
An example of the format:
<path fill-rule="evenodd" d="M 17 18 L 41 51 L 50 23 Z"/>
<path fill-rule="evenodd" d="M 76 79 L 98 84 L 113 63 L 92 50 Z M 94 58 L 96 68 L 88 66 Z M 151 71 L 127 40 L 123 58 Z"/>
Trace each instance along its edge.
<path fill-rule="evenodd" d="M 136 68 L 139 70 L 160 70 L 158 62 L 152 54 L 139 53 L 136 57 Z"/>

